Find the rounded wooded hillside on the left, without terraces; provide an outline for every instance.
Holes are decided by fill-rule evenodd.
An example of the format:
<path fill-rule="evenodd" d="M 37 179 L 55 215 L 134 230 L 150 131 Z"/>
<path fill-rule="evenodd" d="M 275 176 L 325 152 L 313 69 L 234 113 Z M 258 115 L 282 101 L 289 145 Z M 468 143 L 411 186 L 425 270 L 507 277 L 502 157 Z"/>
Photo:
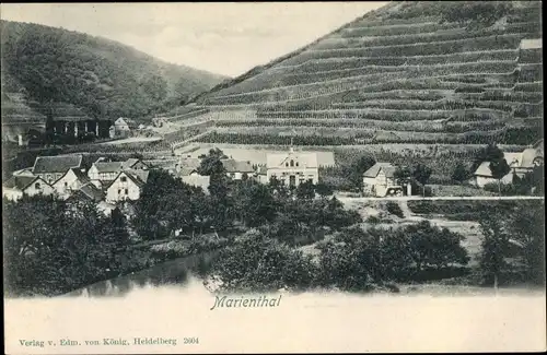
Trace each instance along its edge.
<path fill-rule="evenodd" d="M 55 119 L 142 119 L 225 79 L 61 28 L 2 21 L 1 35 L 2 122 L 42 120 L 51 106 Z"/>

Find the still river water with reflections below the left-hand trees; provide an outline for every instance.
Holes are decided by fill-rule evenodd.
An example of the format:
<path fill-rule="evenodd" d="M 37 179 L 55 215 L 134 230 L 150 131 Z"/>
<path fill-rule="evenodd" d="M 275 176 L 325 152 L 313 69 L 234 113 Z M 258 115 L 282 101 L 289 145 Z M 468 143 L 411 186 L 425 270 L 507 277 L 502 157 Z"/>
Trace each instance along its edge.
<path fill-rule="evenodd" d="M 191 279 L 205 275 L 217 252 L 178 258 L 112 280 L 75 289 L 65 296 L 119 297 L 147 286 L 174 285 L 185 287 Z"/>

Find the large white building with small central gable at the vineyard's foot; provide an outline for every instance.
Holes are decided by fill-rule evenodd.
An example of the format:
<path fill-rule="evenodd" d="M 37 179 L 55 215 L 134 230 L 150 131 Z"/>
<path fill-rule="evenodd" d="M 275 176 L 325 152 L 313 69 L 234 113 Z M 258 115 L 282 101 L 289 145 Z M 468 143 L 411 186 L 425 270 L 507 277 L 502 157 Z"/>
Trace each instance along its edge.
<path fill-rule="evenodd" d="M 319 180 L 317 153 L 294 152 L 270 153 L 266 157 L 267 181 L 277 179 L 288 187 Z"/>

